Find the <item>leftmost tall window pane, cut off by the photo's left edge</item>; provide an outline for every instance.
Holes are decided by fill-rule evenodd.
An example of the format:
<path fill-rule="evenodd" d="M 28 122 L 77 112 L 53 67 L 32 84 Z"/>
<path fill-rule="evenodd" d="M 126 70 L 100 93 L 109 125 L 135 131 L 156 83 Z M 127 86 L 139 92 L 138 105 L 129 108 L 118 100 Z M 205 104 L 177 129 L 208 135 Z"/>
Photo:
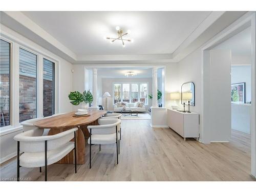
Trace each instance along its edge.
<path fill-rule="evenodd" d="M 0 39 L 0 127 L 10 125 L 10 48 Z"/>

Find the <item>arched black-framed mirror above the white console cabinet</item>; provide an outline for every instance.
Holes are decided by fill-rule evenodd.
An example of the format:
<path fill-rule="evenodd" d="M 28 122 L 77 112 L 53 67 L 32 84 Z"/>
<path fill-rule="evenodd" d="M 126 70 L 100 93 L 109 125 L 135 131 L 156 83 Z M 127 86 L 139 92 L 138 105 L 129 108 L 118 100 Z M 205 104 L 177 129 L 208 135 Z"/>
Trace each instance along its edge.
<path fill-rule="evenodd" d="M 188 105 L 195 106 L 195 84 L 194 82 L 183 83 L 181 86 L 181 104 L 185 102 Z"/>

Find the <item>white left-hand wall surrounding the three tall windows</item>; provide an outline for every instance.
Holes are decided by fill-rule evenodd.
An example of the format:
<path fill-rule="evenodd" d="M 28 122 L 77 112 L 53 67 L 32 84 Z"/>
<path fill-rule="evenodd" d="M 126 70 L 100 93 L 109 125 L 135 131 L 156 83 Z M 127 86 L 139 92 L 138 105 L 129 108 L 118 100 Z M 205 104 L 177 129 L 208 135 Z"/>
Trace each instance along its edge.
<path fill-rule="evenodd" d="M 54 60 L 58 61 L 58 71 L 59 74 L 59 86 L 55 89 L 59 91 L 59 110 L 57 112 L 70 112 L 72 111 L 72 104 L 69 101 L 68 95 L 70 91 L 72 91 L 73 86 L 73 75 L 71 70 L 73 69 L 73 65 L 66 61 L 65 59 L 60 58 L 59 56 L 51 53 L 50 51 L 44 49 L 40 45 L 35 44 L 33 41 L 27 39 L 26 37 L 18 34 L 17 32 L 1 25 L 1 32 L 5 32 L 13 41 L 18 41 L 19 44 L 24 45 L 30 49 L 33 49 L 39 53 L 44 53 L 47 57 L 53 58 Z M 58 102 L 56 101 L 56 102 Z M 13 137 L 22 132 L 20 129 L 14 129 L 10 132 L 1 133 L 0 136 L 0 145 L 1 145 L 1 152 L 0 152 L 0 163 L 14 157 L 16 155 L 16 142 L 13 140 Z"/>

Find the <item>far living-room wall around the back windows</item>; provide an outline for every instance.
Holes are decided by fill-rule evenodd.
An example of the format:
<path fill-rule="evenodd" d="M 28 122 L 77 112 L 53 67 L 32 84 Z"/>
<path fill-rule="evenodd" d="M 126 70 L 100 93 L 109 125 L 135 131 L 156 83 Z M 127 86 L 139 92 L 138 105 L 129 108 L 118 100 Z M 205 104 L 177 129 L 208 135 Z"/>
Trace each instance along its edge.
<path fill-rule="evenodd" d="M 114 82 L 148 82 L 148 94 L 152 94 L 152 78 L 102 78 L 102 93 L 109 92 L 112 96 L 108 99 L 109 110 L 114 110 L 113 107 L 113 83 Z M 105 105 L 105 99 L 102 100 L 103 106 Z M 148 99 L 148 110 L 152 106 L 152 99 Z"/>

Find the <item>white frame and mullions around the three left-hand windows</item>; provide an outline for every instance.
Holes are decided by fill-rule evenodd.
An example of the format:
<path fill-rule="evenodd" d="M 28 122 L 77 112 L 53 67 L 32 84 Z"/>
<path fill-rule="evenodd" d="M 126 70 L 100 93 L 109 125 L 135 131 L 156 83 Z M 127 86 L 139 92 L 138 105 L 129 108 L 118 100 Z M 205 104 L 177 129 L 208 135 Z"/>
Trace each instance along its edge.
<path fill-rule="evenodd" d="M 32 45 L 30 40 L 24 42 L 18 37 L 10 37 L 8 33 L 1 32 L 1 39 L 10 44 L 10 125 L 0 127 L 0 136 L 7 135 L 22 130 L 19 123 L 19 48 L 37 55 L 37 99 L 36 99 L 36 116 L 42 117 L 43 114 L 43 58 L 55 63 L 54 70 L 54 113 L 59 112 L 59 63 L 56 55 L 50 51 L 41 48 L 39 45 Z M 37 47 L 38 46 L 38 47 Z M 17 110 L 18 109 L 18 110 Z"/>

